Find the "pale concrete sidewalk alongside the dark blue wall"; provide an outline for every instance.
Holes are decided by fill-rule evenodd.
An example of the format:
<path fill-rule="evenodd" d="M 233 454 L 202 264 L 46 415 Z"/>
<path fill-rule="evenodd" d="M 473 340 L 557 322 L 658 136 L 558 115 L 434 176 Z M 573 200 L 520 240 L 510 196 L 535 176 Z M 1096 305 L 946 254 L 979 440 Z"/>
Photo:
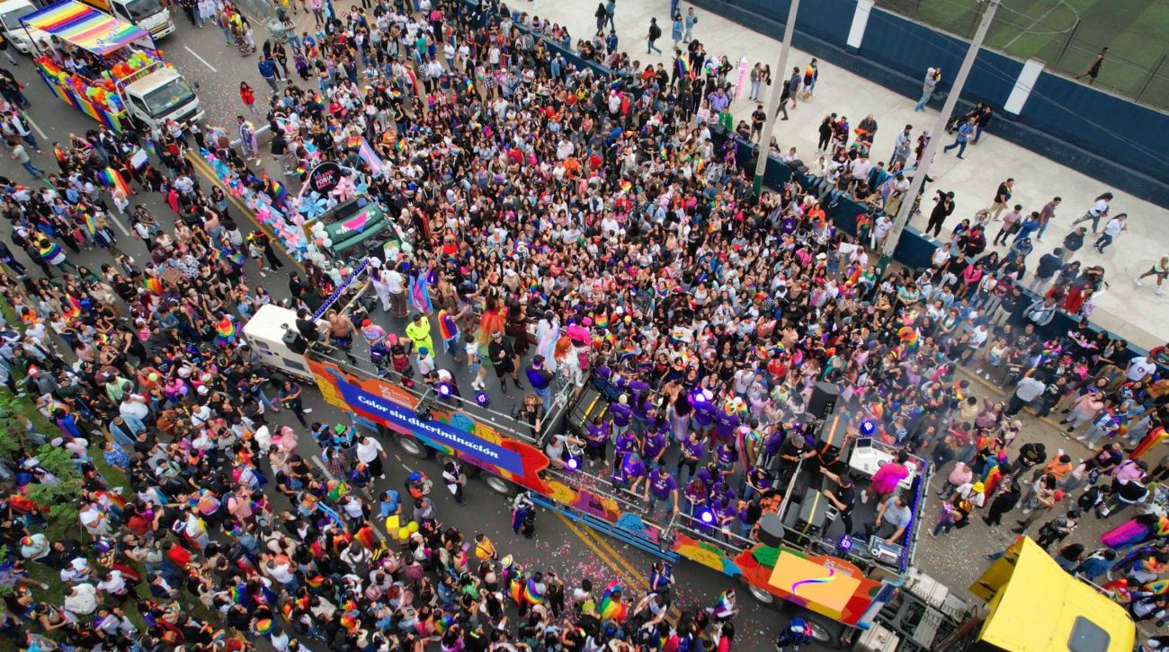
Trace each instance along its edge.
<path fill-rule="evenodd" d="M 595 33 L 596 20 L 593 13 L 595 4 L 588 2 L 517 2 L 519 11 L 551 19 L 561 26 L 567 26 L 573 41 L 589 39 Z M 683 2 L 683 13 L 690 5 Z M 617 25 L 618 48 L 629 53 L 634 61 L 672 64 L 670 6 L 666 0 L 620 0 L 615 22 Z M 732 63 L 738 63 L 742 56 L 748 57 L 748 64 L 762 61 L 772 67 L 774 83 L 784 75 L 776 70 L 780 56 L 779 40 L 768 39 L 740 25 L 720 16 L 704 13 L 696 8 L 699 16 L 694 27 L 694 37 L 703 42 L 710 56 L 726 55 Z M 645 34 L 650 18 L 657 18 L 663 36 L 657 46 L 663 54 L 645 54 Z M 311 19 L 310 19 L 311 20 Z M 791 67 L 801 70 L 808 64 L 808 54 L 791 50 L 788 60 L 788 76 Z M 922 62 L 922 75 L 929 62 Z M 816 84 L 816 96 L 808 102 L 800 102 L 796 109 L 788 107 L 790 119 L 776 122 L 775 137 L 780 146 L 787 151 L 796 147 L 803 153 L 803 160 L 811 166 L 815 162 L 817 127 L 828 113 L 849 117 L 856 125 L 866 115 L 877 119 L 878 136 L 873 143 L 874 161 L 887 161 L 893 150 L 893 138 L 901 129 L 912 124 L 914 137 L 922 130 L 932 130 L 938 119 L 938 111 L 927 109 L 914 112 L 914 99 L 901 97 L 878 84 L 867 83 L 862 77 L 824 61 L 818 62 L 819 81 Z M 736 72 L 728 76 L 736 79 Z M 774 85 L 772 86 L 774 88 Z M 743 88 L 743 95 L 747 92 Z M 768 104 L 763 102 L 763 104 Z M 755 109 L 755 103 L 746 98 L 732 105 L 735 124 L 747 119 Z M 996 107 L 997 109 L 997 107 Z M 936 136 L 936 134 L 935 134 Z M 941 134 L 946 143 L 952 141 L 947 134 Z M 765 136 L 762 141 L 768 143 Z M 922 229 L 931 208 L 935 189 L 953 190 L 955 195 L 954 214 L 947 220 L 942 230 L 945 237 L 949 230 L 966 217 L 973 217 L 975 211 L 990 204 L 998 183 L 1008 176 L 1015 179 L 1014 203 L 1021 203 L 1025 213 L 1039 210 L 1053 196 L 1063 197 L 1063 203 L 1056 213 L 1056 219 L 1047 228 L 1044 242 L 1035 242 L 1036 249 L 1028 257 L 1029 268 L 1035 269 L 1039 257 L 1058 247 L 1071 230 L 1071 223 L 1084 215 L 1092 201 L 1101 193 L 1113 192 L 1112 214 L 1128 213 L 1128 231 L 1121 234 L 1105 254 L 1092 249 L 1092 238 L 1087 240 L 1080 250 L 1078 259 L 1084 266 L 1102 265 L 1109 287 L 1097 301 L 1092 320 L 1136 345 L 1146 348 L 1169 341 L 1169 327 L 1163 320 L 1169 317 L 1169 296 L 1154 294 L 1154 279 L 1146 279 L 1143 287 L 1133 285 L 1133 277 L 1143 273 L 1169 252 L 1169 230 L 1164 228 L 1167 213 L 1162 207 L 1137 200 L 1132 195 L 1119 193 L 1102 186 L 1094 179 L 1064 167 L 1056 161 L 1033 154 L 1023 147 L 995 138 L 995 125 L 991 123 L 978 145 L 967 148 L 966 160 L 957 160 L 953 154 L 938 154 L 931 176 L 934 183 L 925 190 L 921 210 L 924 215 L 913 219 L 911 224 Z M 1162 227 L 1157 227 L 1157 224 Z M 1085 223 L 1087 224 L 1087 223 Z M 1090 226 L 1090 224 L 1088 224 Z M 991 223 L 988 242 L 994 238 L 997 227 Z M 1100 226 L 1101 228 L 1104 224 Z M 1090 234 L 1091 236 L 1091 234 Z M 1032 242 L 1035 238 L 1032 237 Z M 988 244 L 988 250 L 989 250 Z M 999 248 L 1001 252 L 1005 249 Z M 1128 306 L 1128 307 L 1126 307 Z"/>

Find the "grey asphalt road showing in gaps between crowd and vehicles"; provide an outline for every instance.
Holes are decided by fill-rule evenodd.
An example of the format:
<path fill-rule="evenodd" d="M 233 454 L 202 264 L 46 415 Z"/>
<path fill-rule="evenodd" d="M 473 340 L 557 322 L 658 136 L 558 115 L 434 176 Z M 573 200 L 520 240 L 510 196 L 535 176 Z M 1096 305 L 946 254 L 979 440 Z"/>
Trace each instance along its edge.
<path fill-rule="evenodd" d="M 304 19 L 304 16 L 300 16 Z M 302 22 L 304 22 L 302 20 Z M 310 21 L 311 22 L 311 19 Z M 172 62 L 189 81 L 200 84 L 199 96 L 207 111 L 207 122 L 219 125 L 233 125 L 235 116 L 243 111 L 243 105 L 238 98 L 238 82 L 247 79 L 256 90 L 257 95 L 267 91 L 268 86 L 260 77 L 256 69 L 256 55 L 240 57 L 234 46 L 229 47 L 223 42 L 222 34 L 208 26 L 205 29 L 195 29 L 186 22 L 181 13 L 177 15 L 177 32 L 160 43 L 165 50 L 166 58 Z M 307 27 L 307 25 L 305 25 Z M 257 29 L 257 41 L 262 41 L 263 28 Z M 14 69 L 14 74 L 27 88 L 26 95 L 32 102 L 28 117 L 35 124 L 34 131 L 37 139 L 43 141 L 44 154 L 35 155 L 34 161 L 47 171 L 55 171 L 56 162 L 53 160 L 49 143 L 54 140 L 65 140 L 70 132 L 83 132 L 92 129 L 94 124 L 87 116 L 62 104 L 50 95 L 43 82 L 33 72 L 30 62 L 21 60 L 22 64 Z M 275 169 L 274 169 L 275 171 Z M 0 158 L 0 173 L 19 180 L 21 183 L 29 182 L 29 175 L 8 157 Z M 206 187 L 212 181 L 200 179 Z M 137 195 L 132 197 L 133 203 L 141 203 L 150 209 L 162 223 L 170 224 L 174 221 L 174 215 L 155 195 Z M 233 208 L 237 214 L 240 208 Z M 238 216 L 238 215 L 236 215 Z M 140 241 L 129 235 L 127 221 L 125 217 L 115 216 L 118 222 L 118 247 L 141 261 L 145 257 L 145 248 Z M 7 224 L 4 227 L 4 237 L 8 237 Z M 241 228 L 250 228 L 247 222 L 241 222 Z M 15 251 L 18 259 L 23 262 L 30 270 L 36 270 L 25 254 Z M 83 251 L 81 255 L 70 254 L 70 259 L 78 264 L 87 264 L 99 268 L 102 263 L 110 262 L 109 256 L 98 251 Z M 264 286 L 277 298 L 288 296 L 285 277 L 268 276 L 260 278 L 254 265 L 247 269 L 250 286 Z M 395 325 L 382 315 L 380 319 L 387 328 L 394 328 L 401 333 L 400 324 Z M 440 356 L 438 362 L 443 365 L 444 358 Z M 980 381 L 982 382 L 982 381 Z M 493 395 L 493 403 L 498 396 L 497 386 L 493 380 L 489 382 Z M 976 391 L 996 396 L 997 393 L 988 386 L 976 386 Z M 345 419 L 339 410 L 325 404 L 319 394 L 309 388 L 305 391 L 305 404 L 313 409 L 310 415 L 312 421 L 337 422 Z M 498 403 L 497 403 L 498 404 Z M 276 415 L 275 421 L 296 426 L 295 419 L 290 415 Z M 1074 458 L 1086 453 L 1082 445 L 1067 442 L 1059 437 L 1058 431 L 1046 424 L 1025 417 L 1025 429 L 1019 442 L 1040 439 L 1047 443 L 1049 450 L 1066 448 Z M 387 466 L 388 478 L 375 488 L 383 487 L 401 488 L 407 469 L 421 467 L 431 478 L 437 479 L 441 474 L 436 462 L 415 460 L 401 453 L 392 443 L 386 442 L 387 450 L 390 451 L 392 464 Z M 302 451 L 306 456 L 316 455 L 316 444 L 311 441 L 304 444 Z M 943 478 L 945 472 L 935 476 Z M 935 480 L 935 486 L 936 486 Z M 466 492 L 466 504 L 456 505 L 445 494 L 441 484 L 436 484 L 434 497 L 438 504 L 440 518 L 443 522 L 459 528 L 466 534 L 484 532 L 497 543 L 503 553 L 514 555 L 516 560 L 530 568 L 555 570 L 569 584 L 581 577 L 592 578 L 594 585 L 603 585 L 609 580 L 618 578 L 627 587 L 639 590 L 649 576 L 649 567 L 652 559 L 636 549 L 627 548 L 614 541 L 606 540 L 596 534 L 586 533 L 580 526 L 569 525 L 559 516 L 541 512 L 537 520 L 537 535 L 532 541 L 518 537 L 510 529 L 510 515 L 504 498 L 492 493 L 485 485 L 471 481 Z M 932 497 L 931 497 L 932 498 Z M 936 514 L 936 500 L 927 506 L 927 521 L 925 528 L 933 525 Z M 1015 516 L 1017 518 L 1017 516 Z M 1091 522 L 1081 526 L 1081 532 L 1073 540 L 1079 540 L 1086 546 L 1092 546 L 1099 532 L 1106 527 L 1112 527 L 1116 522 Z M 978 519 L 975 519 L 971 527 L 960 530 L 949 537 L 932 539 L 922 532 L 921 543 L 918 552 L 918 563 L 922 570 L 949 583 L 959 594 L 964 594 L 968 585 L 984 568 L 985 562 L 982 555 L 1001 549 L 1011 540 L 1012 535 L 1005 529 L 990 530 Z M 719 591 L 726 588 L 731 581 L 725 576 L 708 570 L 698 564 L 683 562 L 676 569 L 678 577 L 678 590 L 675 604 L 679 609 L 694 609 L 713 604 Z M 773 640 L 776 630 L 787 622 L 787 617 L 780 615 L 775 609 L 762 606 L 755 603 L 746 592 L 740 592 L 739 604 L 742 609 L 736 619 L 735 647 L 741 650 L 774 650 Z M 816 647 L 811 647 L 815 650 Z"/>

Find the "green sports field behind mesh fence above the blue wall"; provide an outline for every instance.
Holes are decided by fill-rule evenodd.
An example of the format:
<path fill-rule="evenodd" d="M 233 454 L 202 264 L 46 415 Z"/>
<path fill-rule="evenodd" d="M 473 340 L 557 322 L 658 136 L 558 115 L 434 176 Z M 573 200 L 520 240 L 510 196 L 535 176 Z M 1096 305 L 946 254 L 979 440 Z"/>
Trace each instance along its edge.
<path fill-rule="evenodd" d="M 1169 12 L 1146 11 L 1158 0 L 1002 0 L 987 47 L 1017 58 L 1043 61 L 1049 70 L 1169 109 Z M 877 7 L 970 39 L 976 0 L 876 0 Z M 1079 7 L 1079 8 L 1077 8 Z M 1108 48 L 1093 81 L 1088 71 Z"/>

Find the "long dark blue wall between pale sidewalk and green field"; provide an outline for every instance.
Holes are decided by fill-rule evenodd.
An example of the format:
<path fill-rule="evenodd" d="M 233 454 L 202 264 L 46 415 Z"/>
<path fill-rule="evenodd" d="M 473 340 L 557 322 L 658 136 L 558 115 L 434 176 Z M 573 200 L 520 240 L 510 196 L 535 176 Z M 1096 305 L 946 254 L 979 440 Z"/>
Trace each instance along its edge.
<path fill-rule="evenodd" d="M 773 39 L 783 36 L 790 6 L 788 0 L 691 1 Z M 966 42 L 874 8 L 860 49 L 850 48 L 846 42 L 852 18 L 846 14 L 851 7 L 853 0 L 804 0 L 794 44 L 913 98 L 921 93 L 926 68 L 941 65 L 946 71 L 941 90 L 948 89 L 947 79 L 957 72 Z M 1022 116 L 1009 116 L 1001 109 L 1022 68 L 1023 63 L 1011 57 L 982 51 L 959 111 L 975 100 L 988 100 L 999 109 L 991 126 L 995 136 L 1095 176 L 1101 185 L 1169 204 L 1169 166 L 1149 152 L 1167 151 L 1169 115 L 1044 72 Z M 940 102 L 934 105 L 940 106 Z"/>

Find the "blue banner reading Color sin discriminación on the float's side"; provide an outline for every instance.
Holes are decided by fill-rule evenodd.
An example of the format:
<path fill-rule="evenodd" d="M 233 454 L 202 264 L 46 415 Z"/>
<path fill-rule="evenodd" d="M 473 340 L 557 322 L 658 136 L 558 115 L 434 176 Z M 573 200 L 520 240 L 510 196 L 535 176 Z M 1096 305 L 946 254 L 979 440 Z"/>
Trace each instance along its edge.
<path fill-rule="evenodd" d="M 436 444 L 450 446 L 458 452 L 466 453 L 489 464 L 494 464 L 517 476 L 524 474 L 524 463 L 514 451 L 476 437 L 471 432 L 456 430 L 441 421 L 422 421 L 419 418 L 417 412 L 409 408 L 369 394 L 368 391 L 362 391 L 355 386 L 344 382 L 341 379 L 337 380 L 337 388 L 341 391 L 341 396 L 346 403 L 354 409 L 360 409 L 387 426 L 395 430 L 406 430 L 419 437 L 430 439 Z"/>

